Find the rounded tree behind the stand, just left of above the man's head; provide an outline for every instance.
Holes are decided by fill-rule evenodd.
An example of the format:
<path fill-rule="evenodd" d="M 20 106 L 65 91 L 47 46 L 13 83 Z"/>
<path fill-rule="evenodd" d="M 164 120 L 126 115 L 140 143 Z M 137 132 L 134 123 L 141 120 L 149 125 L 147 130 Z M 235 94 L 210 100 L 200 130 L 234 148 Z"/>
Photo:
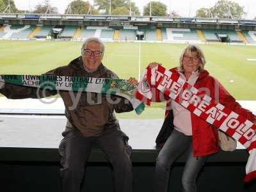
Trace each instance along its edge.
<path fill-rule="evenodd" d="M 89 1 L 82 1 L 82 0 L 76 0 L 76 1 L 72 1 L 71 3 L 71 10 L 72 10 L 72 14 L 88 14 L 89 9 L 91 14 L 97 14 L 97 10 L 95 10 L 95 8 L 93 8 L 93 6 L 90 4 Z M 70 5 L 68 4 L 68 6 Z M 65 13 L 67 13 L 68 10 L 68 6 L 65 10 Z"/>

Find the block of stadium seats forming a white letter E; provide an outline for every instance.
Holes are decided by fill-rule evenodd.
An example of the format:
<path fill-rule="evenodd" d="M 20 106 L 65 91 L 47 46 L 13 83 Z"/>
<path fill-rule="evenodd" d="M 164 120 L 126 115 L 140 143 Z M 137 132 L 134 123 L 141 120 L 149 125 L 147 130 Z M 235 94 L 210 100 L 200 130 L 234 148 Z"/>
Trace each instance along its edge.
<path fill-rule="evenodd" d="M 165 36 L 166 31 L 166 36 Z M 167 37 L 167 39 L 166 39 Z M 182 28 L 166 28 L 163 29 L 163 40 L 179 41 L 179 42 L 200 42 L 200 38 L 195 29 L 182 29 Z"/>

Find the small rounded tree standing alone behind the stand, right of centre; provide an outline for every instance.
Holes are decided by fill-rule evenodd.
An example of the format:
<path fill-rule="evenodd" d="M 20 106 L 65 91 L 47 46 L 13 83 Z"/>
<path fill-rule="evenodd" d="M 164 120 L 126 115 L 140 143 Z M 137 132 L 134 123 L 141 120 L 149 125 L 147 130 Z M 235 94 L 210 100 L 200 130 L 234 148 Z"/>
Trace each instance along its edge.
<path fill-rule="evenodd" d="M 152 16 L 166 16 L 167 6 L 159 1 L 151 1 Z M 150 15 L 150 3 L 143 8 L 143 15 Z"/>

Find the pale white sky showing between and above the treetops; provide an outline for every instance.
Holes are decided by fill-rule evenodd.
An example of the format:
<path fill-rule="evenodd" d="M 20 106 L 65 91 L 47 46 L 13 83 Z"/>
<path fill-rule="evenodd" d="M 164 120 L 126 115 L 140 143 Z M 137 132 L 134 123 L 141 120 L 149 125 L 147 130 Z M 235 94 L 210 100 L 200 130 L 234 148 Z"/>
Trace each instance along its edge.
<path fill-rule="evenodd" d="M 64 13 L 65 9 L 72 0 L 49 0 L 52 6 L 56 6 L 60 13 Z M 92 0 L 89 0 L 93 3 Z M 109 1 L 109 0 L 106 0 Z M 145 6 L 150 0 L 131 0 L 136 3 L 136 6 L 143 11 L 143 6 Z M 214 6 L 218 0 L 152 0 L 160 1 L 161 3 L 168 6 L 168 12 L 170 12 L 170 7 L 172 11 L 177 12 L 182 17 L 195 17 L 196 10 L 199 8 L 209 8 Z M 239 3 L 244 7 L 244 12 L 247 13 L 246 19 L 253 19 L 256 17 L 256 0 L 229 0 Z M 44 0 L 14 0 L 15 5 L 19 10 L 33 10 L 36 4 L 44 2 Z"/>

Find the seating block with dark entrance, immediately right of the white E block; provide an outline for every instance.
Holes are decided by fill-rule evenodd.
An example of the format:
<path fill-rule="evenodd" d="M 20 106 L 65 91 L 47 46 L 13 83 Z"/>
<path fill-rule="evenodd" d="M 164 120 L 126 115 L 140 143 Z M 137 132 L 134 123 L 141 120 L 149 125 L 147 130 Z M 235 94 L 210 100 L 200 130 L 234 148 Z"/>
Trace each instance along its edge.
<path fill-rule="evenodd" d="M 204 29 L 203 33 L 209 42 L 243 42 L 234 30 Z"/>

